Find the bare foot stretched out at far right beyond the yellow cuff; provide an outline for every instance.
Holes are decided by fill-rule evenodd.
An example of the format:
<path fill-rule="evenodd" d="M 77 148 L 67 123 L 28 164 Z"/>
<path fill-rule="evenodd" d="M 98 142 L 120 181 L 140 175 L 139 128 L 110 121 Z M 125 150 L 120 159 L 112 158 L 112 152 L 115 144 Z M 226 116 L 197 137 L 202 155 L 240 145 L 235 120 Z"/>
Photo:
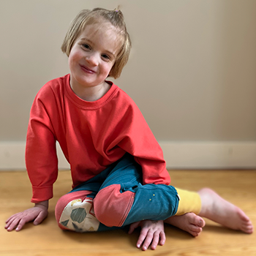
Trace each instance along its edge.
<path fill-rule="evenodd" d="M 241 230 L 249 234 L 253 232 L 252 222 L 240 208 L 227 202 L 211 189 L 200 189 L 198 194 L 202 201 L 199 214 L 201 217 L 211 219 L 233 230 Z"/>

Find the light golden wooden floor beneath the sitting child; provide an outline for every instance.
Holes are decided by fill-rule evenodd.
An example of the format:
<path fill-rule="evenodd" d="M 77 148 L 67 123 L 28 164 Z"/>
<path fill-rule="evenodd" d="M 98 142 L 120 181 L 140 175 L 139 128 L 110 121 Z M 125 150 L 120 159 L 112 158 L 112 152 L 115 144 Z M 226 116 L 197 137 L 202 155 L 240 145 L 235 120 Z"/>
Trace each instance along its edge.
<path fill-rule="evenodd" d="M 231 203 L 241 207 L 256 225 L 256 170 L 172 170 L 173 186 L 198 190 L 211 187 Z M 142 252 L 135 247 L 139 231 L 128 235 L 125 230 L 104 233 L 72 233 L 59 229 L 54 206 L 70 189 L 69 171 L 61 171 L 50 200 L 49 217 L 42 225 L 31 223 L 20 232 L 4 230 L 5 219 L 33 206 L 26 172 L 0 172 L 0 255 L 1 256 L 72 256 L 72 255 L 256 255 L 256 232 L 246 235 L 206 221 L 197 238 L 166 226 L 165 246 Z"/>

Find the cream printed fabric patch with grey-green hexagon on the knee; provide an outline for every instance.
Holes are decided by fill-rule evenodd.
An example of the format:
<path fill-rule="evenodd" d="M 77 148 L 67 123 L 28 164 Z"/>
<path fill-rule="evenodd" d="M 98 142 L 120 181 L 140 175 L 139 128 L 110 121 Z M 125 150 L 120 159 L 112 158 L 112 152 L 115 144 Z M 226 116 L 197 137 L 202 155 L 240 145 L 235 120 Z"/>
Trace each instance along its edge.
<path fill-rule="evenodd" d="M 59 223 L 75 232 L 91 232 L 99 229 L 99 221 L 94 214 L 93 200 L 72 200 L 67 204 L 61 214 Z"/>

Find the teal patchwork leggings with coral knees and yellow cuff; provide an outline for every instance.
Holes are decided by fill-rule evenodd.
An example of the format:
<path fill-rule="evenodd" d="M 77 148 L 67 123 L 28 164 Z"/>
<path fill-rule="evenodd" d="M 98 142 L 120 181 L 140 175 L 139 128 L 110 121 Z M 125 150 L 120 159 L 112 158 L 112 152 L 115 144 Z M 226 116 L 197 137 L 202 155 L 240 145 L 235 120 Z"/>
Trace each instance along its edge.
<path fill-rule="evenodd" d="M 62 196 L 56 204 L 56 220 L 63 230 L 87 232 L 200 211 L 197 193 L 178 191 L 164 184 L 142 185 L 140 165 L 126 154 L 99 175 Z M 184 204 L 179 206 L 183 197 Z"/>

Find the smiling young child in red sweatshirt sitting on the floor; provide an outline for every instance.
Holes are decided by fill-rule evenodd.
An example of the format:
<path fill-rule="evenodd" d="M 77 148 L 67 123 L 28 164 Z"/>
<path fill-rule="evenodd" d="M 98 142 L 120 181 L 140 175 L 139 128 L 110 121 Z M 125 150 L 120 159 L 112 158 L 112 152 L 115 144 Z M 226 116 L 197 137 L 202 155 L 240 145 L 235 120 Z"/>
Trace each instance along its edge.
<path fill-rule="evenodd" d="M 8 231 L 48 215 L 58 175 L 56 140 L 72 173 L 72 191 L 56 205 L 62 230 L 77 232 L 141 226 L 137 246 L 165 243 L 163 220 L 198 236 L 206 217 L 252 233 L 241 209 L 211 189 L 188 192 L 170 184 L 162 149 L 140 110 L 106 78 L 118 78 L 131 42 L 120 10 L 83 10 L 61 50 L 70 74 L 46 83 L 31 108 L 26 167 L 33 208 L 7 220 Z M 197 216 L 197 214 L 199 216 Z"/>

